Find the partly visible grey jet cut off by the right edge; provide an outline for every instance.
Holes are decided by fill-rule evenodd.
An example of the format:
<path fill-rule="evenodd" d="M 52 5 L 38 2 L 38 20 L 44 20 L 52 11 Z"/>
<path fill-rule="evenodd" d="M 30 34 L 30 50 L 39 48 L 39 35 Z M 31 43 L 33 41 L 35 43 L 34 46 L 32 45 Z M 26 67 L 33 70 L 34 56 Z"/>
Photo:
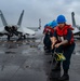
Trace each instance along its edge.
<path fill-rule="evenodd" d="M 80 35 L 80 27 L 78 25 L 76 25 L 76 21 L 75 21 L 75 12 L 71 12 L 71 19 L 72 19 L 72 27 L 75 30 L 74 31 L 74 35 Z"/>

